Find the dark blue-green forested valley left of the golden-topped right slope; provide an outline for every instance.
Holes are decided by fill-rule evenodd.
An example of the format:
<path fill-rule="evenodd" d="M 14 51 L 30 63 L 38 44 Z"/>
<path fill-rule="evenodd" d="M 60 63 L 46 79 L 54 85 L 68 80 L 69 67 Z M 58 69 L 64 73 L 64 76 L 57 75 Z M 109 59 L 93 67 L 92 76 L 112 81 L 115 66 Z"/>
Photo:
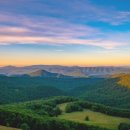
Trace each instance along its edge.
<path fill-rule="evenodd" d="M 88 82 L 86 78 L 0 76 L 0 104 L 66 95 Z"/>

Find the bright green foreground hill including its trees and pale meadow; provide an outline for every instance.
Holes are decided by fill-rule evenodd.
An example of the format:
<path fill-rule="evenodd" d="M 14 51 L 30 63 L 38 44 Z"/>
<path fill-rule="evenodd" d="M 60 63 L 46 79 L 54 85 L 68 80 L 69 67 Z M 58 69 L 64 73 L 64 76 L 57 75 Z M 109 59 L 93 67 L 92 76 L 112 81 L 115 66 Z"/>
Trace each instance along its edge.
<path fill-rule="evenodd" d="M 71 112 L 66 111 L 68 106 Z M 83 109 L 77 109 L 79 107 Z M 86 116 L 89 121 L 85 121 Z M 117 130 L 120 123 L 130 123 L 129 110 L 72 97 L 53 97 L 0 106 L 0 124 L 15 128 L 24 126 L 30 130 Z"/>

